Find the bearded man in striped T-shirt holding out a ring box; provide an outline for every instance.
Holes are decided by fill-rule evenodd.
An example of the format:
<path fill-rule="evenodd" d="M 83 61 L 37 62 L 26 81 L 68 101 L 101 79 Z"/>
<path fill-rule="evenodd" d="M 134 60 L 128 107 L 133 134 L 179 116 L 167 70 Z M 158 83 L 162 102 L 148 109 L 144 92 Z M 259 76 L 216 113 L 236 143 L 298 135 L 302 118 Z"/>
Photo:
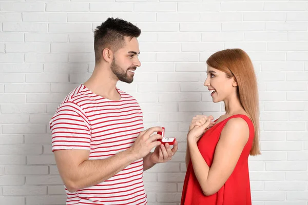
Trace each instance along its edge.
<path fill-rule="evenodd" d="M 146 204 L 143 171 L 170 160 L 178 149 L 177 142 L 171 149 L 157 141 L 161 127 L 143 131 L 138 102 L 116 87 L 118 80 L 132 83 L 141 65 L 140 34 L 138 27 L 118 18 L 98 26 L 93 74 L 50 120 L 66 204 Z"/>

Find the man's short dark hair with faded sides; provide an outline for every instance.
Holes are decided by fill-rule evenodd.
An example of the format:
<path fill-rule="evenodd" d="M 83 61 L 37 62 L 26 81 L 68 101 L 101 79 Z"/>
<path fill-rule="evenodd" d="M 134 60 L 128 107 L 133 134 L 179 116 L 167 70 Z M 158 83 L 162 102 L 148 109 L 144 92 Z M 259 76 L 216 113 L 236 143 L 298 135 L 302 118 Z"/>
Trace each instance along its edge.
<path fill-rule="evenodd" d="M 95 63 L 101 60 L 102 51 L 109 48 L 113 52 L 124 47 L 124 37 L 139 37 L 141 30 L 126 20 L 120 18 L 107 18 L 94 31 Z"/>

